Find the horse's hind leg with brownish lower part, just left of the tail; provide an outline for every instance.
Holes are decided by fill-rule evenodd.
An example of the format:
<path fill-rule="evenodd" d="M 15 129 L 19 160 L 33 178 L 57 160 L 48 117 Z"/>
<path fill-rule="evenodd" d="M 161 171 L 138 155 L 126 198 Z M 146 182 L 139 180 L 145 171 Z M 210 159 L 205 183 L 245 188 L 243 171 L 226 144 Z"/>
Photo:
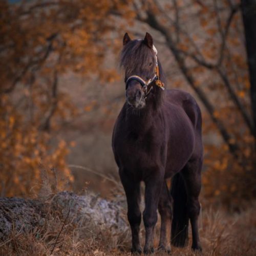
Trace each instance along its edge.
<path fill-rule="evenodd" d="M 166 182 L 163 183 L 162 191 L 158 203 L 158 211 L 161 216 L 161 229 L 160 229 L 160 241 L 159 249 L 170 252 L 169 247 L 169 234 L 170 223 L 172 220 L 172 196 L 169 193 Z M 167 234 L 167 237 L 166 237 Z"/>

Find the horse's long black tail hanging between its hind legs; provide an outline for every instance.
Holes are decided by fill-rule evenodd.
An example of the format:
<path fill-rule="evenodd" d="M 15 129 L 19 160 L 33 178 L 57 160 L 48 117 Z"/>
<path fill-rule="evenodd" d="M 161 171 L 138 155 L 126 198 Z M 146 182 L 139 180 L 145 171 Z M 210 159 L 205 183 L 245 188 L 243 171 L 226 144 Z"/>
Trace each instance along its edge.
<path fill-rule="evenodd" d="M 180 173 L 173 177 L 170 193 L 174 199 L 172 244 L 184 247 L 188 241 L 187 193 L 185 181 Z"/>

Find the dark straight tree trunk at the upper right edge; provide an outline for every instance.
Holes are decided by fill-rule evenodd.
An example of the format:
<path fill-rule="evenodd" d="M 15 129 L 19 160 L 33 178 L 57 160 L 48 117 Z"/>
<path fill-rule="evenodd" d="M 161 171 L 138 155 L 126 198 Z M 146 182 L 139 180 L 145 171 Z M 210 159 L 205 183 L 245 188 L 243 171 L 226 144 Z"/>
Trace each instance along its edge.
<path fill-rule="evenodd" d="M 251 85 L 250 93 L 254 123 L 254 138 L 256 140 L 256 1 L 242 0 L 241 3 Z"/>

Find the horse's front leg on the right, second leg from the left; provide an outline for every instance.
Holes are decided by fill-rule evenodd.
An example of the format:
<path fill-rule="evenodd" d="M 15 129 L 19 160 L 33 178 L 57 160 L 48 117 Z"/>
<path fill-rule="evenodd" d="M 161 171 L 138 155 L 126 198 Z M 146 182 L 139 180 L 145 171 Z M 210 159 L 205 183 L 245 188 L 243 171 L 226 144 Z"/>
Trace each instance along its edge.
<path fill-rule="evenodd" d="M 163 185 L 164 170 L 160 170 L 145 181 L 145 209 L 143 211 L 143 221 L 145 225 L 146 238 L 144 253 L 154 252 L 154 227 L 157 223 L 157 206 Z"/>

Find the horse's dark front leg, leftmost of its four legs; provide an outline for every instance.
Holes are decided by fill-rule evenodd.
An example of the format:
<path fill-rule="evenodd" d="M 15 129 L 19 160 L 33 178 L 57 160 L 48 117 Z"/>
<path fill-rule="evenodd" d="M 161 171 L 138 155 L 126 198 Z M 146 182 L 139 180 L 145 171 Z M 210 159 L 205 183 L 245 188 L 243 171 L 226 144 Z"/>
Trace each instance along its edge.
<path fill-rule="evenodd" d="M 141 211 L 140 211 L 140 182 L 133 182 L 129 180 L 121 172 L 120 178 L 123 184 L 123 188 L 127 200 L 127 217 L 132 230 L 132 253 L 142 253 L 140 246 L 139 231 L 141 222 Z"/>

